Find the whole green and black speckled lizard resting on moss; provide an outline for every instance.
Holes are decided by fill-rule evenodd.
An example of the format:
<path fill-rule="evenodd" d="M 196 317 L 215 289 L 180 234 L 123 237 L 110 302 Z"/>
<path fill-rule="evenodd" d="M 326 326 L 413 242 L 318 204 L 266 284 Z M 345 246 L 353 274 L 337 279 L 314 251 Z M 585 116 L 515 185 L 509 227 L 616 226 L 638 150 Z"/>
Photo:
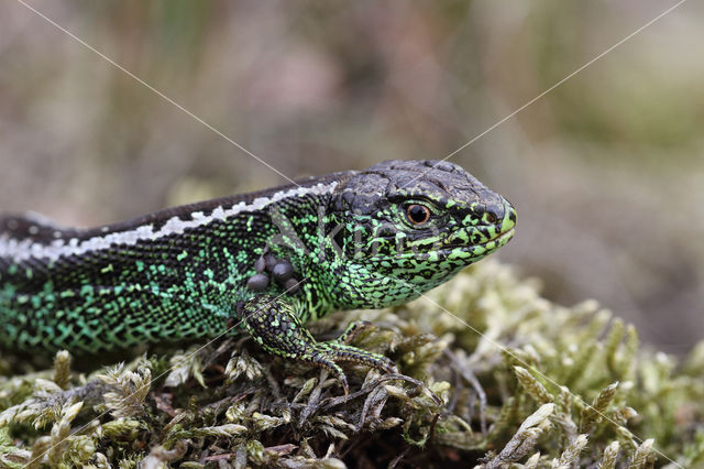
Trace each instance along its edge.
<path fill-rule="evenodd" d="M 316 341 L 330 312 L 396 305 L 504 246 L 516 212 L 460 166 L 389 161 L 95 229 L 0 217 L 0 343 L 97 353 L 246 331 L 337 373 L 386 357 Z"/>

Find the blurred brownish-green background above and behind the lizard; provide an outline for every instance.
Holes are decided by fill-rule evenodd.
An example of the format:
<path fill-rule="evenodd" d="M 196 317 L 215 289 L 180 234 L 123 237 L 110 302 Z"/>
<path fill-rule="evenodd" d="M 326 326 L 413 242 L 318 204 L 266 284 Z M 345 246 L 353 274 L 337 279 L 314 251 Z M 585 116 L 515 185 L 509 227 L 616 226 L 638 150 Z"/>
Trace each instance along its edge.
<path fill-rule="evenodd" d="M 54 1 L 35 8 L 290 177 L 440 159 L 674 2 Z M 675 353 L 704 336 L 704 6 L 458 153 L 518 208 L 499 257 Z M 0 209 L 127 219 L 283 179 L 15 1 Z"/>

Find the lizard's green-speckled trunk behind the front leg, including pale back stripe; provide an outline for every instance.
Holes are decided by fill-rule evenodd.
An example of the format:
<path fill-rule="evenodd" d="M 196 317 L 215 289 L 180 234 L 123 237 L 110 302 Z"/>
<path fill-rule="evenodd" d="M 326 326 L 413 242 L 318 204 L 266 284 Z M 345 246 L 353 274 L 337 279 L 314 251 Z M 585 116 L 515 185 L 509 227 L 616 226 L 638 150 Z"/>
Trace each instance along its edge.
<path fill-rule="evenodd" d="M 267 208 L 326 195 L 341 174 L 160 210 L 97 228 L 0 218 L 0 342 L 98 352 L 213 337 L 246 299 L 276 233 Z"/>

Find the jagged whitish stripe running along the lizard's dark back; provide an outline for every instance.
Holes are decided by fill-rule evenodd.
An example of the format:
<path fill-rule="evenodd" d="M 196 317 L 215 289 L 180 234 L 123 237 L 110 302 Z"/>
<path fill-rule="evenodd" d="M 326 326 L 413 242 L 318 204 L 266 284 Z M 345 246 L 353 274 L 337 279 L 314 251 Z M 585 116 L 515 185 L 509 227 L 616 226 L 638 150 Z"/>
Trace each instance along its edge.
<path fill-rule="evenodd" d="M 180 234 L 186 229 L 208 225 L 215 220 L 226 220 L 243 211 L 258 211 L 266 206 L 289 197 L 299 197 L 307 194 L 320 195 L 331 193 L 337 182 L 330 184 L 317 184 L 310 187 L 295 187 L 285 192 L 278 192 L 271 197 L 258 197 L 250 204 L 240 201 L 229 208 L 216 207 L 209 216 L 202 211 L 190 214 L 190 220 L 182 220 L 177 216 L 169 218 L 158 231 L 154 231 L 152 223 L 142 225 L 128 231 L 111 232 L 106 236 L 97 236 L 84 241 L 73 238 L 66 240 L 57 239 L 50 244 L 40 244 L 32 240 L 18 240 L 10 238 L 8 233 L 0 234 L 0 258 L 10 258 L 14 262 L 22 262 L 29 259 L 43 259 L 56 261 L 62 255 L 81 255 L 91 251 L 109 249 L 112 244 L 134 246 L 143 240 L 156 240 L 169 234 Z"/>

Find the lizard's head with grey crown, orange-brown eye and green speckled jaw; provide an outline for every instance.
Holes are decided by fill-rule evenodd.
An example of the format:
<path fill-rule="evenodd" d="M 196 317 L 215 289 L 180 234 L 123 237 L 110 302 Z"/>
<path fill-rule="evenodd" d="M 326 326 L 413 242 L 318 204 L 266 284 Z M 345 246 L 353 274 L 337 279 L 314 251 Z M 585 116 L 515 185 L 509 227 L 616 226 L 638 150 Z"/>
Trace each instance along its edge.
<path fill-rule="evenodd" d="M 457 164 L 386 161 L 340 182 L 327 221 L 337 306 L 382 307 L 506 244 L 516 211 Z"/>

